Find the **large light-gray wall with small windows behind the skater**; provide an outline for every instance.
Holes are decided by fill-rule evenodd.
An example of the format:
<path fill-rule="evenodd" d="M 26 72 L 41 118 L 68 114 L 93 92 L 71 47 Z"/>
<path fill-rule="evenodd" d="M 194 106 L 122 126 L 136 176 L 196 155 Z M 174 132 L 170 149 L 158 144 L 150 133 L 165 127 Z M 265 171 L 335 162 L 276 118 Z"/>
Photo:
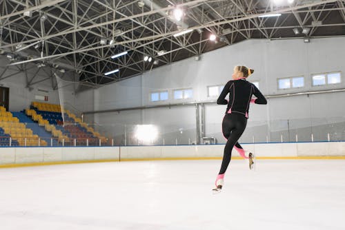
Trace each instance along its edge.
<path fill-rule="evenodd" d="M 265 95 L 288 94 L 317 90 L 345 88 L 345 38 L 291 40 L 248 40 L 242 43 L 208 52 L 201 61 L 194 58 L 159 67 L 141 76 L 95 90 L 95 110 L 119 109 L 140 105 L 157 105 L 150 102 L 150 92 L 168 90 L 169 100 L 161 102 L 183 103 L 214 101 L 208 97 L 207 86 L 224 85 L 230 79 L 235 65 L 247 65 L 255 70 L 248 81 L 259 81 L 259 88 Z M 342 72 L 342 83 L 313 87 L 311 74 Z M 304 76 L 304 87 L 291 90 L 277 90 L 277 79 L 290 76 Z M 173 100 L 172 90 L 193 88 L 193 99 Z M 330 94 L 309 94 L 270 98 L 268 105 L 251 105 L 248 129 L 242 137 L 244 142 L 315 140 L 344 138 L 345 107 L 341 105 L 344 92 Z M 225 107 L 206 105 L 206 136 L 215 136 L 219 142 L 221 119 Z M 121 133 L 121 126 L 152 123 L 161 128 L 161 134 L 168 134 L 170 143 L 176 136 L 188 130 L 188 138 L 195 140 L 195 107 L 172 107 L 170 109 L 144 109 L 119 114 L 97 114 L 99 124 L 116 124 L 117 128 L 107 127 L 110 135 Z M 120 128 L 121 127 L 121 128 Z M 122 131 L 124 132 L 124 131 Z M 175 137 L 175 138 L 174 138 Z M 187 136 L 181 138 L 186 143 Z M 159 140 L 161 141 L 161 140 Z"/>

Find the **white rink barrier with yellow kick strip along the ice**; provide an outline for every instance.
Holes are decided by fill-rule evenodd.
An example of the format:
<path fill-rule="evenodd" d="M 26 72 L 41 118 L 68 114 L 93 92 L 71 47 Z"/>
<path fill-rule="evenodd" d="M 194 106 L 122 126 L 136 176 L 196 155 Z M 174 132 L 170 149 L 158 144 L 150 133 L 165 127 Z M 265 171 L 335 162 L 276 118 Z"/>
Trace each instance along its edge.
<path fill-rule="evenodd" d="M 345 142 L 243 144 L 258 159 L 345 159 Z M 224 145 L 1 147 L 0 167 L 128 160 L 221 159 Z M 239 159 L 233 150 L 232 159 Z"/>

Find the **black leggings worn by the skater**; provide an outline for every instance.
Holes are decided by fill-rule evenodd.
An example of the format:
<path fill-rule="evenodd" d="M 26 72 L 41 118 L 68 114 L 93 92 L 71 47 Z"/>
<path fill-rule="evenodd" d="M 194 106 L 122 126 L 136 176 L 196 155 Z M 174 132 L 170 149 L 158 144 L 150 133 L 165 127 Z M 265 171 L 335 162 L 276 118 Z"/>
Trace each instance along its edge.
<path fill-rule="evenodd" d="M 224 174 L 231 159 L 231 151 L 234 145 L 242 149 L 237 140 L 242 136 L 244 129 L 246 129 L 247 118 L 243 114 L 225 114 L 222 123 L 223 135 L 228 141 L 224 147 L 223 161 L 219 174 Z"/>

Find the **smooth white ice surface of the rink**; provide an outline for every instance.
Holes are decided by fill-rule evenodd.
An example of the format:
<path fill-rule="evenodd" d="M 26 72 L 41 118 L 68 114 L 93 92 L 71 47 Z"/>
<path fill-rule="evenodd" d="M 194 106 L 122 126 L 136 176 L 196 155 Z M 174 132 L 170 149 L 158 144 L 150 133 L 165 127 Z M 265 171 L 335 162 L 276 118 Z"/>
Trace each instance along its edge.
<path fill-rule="evenodd" d="M 88 163 L 0 169 L 0 229 L 344 230 L 345 160 Z"/>

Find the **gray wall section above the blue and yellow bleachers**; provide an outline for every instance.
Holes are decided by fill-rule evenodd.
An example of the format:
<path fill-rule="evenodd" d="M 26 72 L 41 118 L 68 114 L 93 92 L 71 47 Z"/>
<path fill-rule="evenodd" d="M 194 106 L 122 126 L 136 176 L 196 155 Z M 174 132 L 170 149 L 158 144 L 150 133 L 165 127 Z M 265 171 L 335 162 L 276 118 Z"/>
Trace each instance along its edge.
<path fill-rule="evenodd" d="M 48 79 L 50 76 L 50 68 L 44 67 L 38 69 L 34 64 L 28 64 L 28 81 L 36 83 L 30 87 L 28 85 L 25 72 L 19 71 L 15 66 L 6 66 L 9 64 L 6 56 L 0 56 L 0 74 L 3 74 L 0 79 L 0 85 L 10 88 L 10 111 L 18 112 L 30 107 L 32 101 L 39 101 L 35 99 L 35 95 L 48 96 L 48 101 L 40 101 L 43 103 L 60 104 L 68 103 L 68 109 L 74 109 L 74 112 L 93 110 L 94 92 L 92 90 L 75 94 L 74 85 L 69 85 L 60 89 L 61 96 L 59 97 L 59 90 L 53 90 L 52 85 L 56 84 L 56 80 Z M 39 70 L 37 76 L 33 78 L 34 74 Z M 11 74 L 17 73 L 14 76 Z M 59 73 L 61 74 L 61 73 Z M 66 74 L 69 74 L 66 72 Z M 41 92 L 44 90 L 46 92 Z M 60 100 L 61 99 L 61 100 Z M 90 103 L 91 102 L 91 103 Z"/>

